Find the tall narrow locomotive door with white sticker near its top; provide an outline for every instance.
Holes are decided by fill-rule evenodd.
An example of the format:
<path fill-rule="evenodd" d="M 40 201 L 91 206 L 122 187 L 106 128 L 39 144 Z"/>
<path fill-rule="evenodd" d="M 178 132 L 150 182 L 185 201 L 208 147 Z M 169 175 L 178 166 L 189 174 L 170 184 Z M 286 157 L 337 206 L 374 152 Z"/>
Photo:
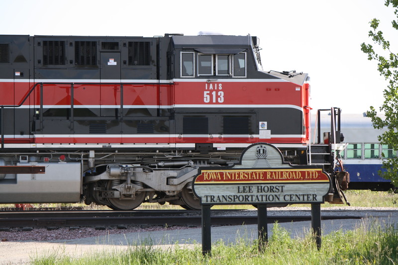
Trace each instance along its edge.
<path fill-rule="evenodd" d="M 100 53 L 100 116 L 103 118 L 103 134 L 121 141 L 121 62 L 119 52 Z M 102 118 L 101 118 L 102 119 Z M 101 127 L 101 126 L 99 126 Z M 116 139 L 114 139 L 116 140 Z M 109 142 L 114 142 L 111 140 Z"/>

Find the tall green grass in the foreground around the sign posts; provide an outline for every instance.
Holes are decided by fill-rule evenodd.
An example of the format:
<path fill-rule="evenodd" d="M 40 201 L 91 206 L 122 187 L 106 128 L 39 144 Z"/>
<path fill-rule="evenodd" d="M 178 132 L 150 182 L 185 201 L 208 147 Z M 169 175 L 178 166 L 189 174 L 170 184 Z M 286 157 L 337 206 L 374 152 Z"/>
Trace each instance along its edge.
<path fill-rule="evenodd" d="M 55 252 L 36 257 L 33 265 L 312 265 L 312 264 L 396 264 L 398 261 L 398 227 L 396 225 L 363 224 L 348 231 L 336 231 L 322 237 L 318 251 L 312 235 L 292 238 L 275 224 L 267 247 L 259 253 L 257 241 L 240 238 L 234 243 L 219 241 L 212 246 L 211 257 L 203 257 L 199 244 L 159 249 L 149 244 L 130 245 L 124 252 L 101 252 L 73 258 Z"/>

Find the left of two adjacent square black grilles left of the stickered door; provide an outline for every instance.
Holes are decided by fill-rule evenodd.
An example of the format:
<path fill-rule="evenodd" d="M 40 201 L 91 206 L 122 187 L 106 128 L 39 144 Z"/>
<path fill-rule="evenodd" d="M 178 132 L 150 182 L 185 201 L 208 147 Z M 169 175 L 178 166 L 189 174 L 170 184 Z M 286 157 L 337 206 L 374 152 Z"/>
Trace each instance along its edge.
<path fill-rule="evenodd" d="M 43 41 L 43 65 L 65 65 L 65 41 Z"/>

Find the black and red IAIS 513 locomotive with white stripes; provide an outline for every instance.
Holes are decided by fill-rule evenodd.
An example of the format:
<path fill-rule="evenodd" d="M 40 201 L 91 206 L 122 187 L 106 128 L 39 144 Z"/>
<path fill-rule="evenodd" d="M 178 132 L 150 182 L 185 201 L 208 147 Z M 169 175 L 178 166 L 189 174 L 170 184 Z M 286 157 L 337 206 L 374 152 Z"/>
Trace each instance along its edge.
<path fill-rule="evenodd" d="M 233 165 L 253 143 L 311 162 L 308 81 L 263 71 L 250 35 L 0 35 L 0 203 L 199 209 L 200 167 Z M 335 179 L 331 128 L 317 153 Z"/>

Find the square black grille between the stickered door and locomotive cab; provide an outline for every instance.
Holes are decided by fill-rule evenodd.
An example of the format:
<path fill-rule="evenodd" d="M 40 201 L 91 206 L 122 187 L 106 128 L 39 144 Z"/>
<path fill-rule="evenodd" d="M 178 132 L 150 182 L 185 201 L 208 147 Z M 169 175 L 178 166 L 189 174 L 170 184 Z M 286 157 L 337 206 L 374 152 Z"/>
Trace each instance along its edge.
<path fill-rule="evenodd" d="M 151 43 L 149 41 L 128 42 L 128 65 L 151 65 Z"/>

